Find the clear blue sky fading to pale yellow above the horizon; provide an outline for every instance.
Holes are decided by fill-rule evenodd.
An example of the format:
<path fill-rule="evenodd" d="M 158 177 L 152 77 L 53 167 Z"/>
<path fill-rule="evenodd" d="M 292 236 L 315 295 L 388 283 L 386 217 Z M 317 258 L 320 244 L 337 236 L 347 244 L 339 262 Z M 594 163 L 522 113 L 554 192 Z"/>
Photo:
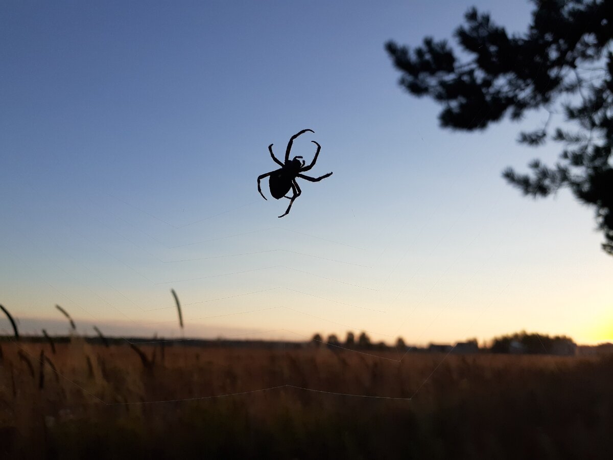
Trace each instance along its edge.
<path fill-rule="evenodd" d="M 593 209 L 501 178 L 557 157 L 516 142 L 547 113 L 454 132 L 398 85 L 385 42 L 452 40 L 473 5 L 517 33 L 532 8 L 2 2 L 0 304 L 22 334 L 66 334 L 59 304 L 86 335 L 613 340 Z M 278 218 L 256 178 L 307 128 L 292 156 L 316 140 L 333 175 Z"/>

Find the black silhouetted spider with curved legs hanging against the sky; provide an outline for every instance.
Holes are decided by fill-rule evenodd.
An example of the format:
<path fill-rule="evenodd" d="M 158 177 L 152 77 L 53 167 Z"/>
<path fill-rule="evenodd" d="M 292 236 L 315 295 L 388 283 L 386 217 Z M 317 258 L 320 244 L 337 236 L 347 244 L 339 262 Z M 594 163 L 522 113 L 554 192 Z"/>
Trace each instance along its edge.
<path fill-rule="evenodd" d="M 294 139 L 300 136 L 300 134 L 303 134 L 307 131 L 315 132 L 313 131 L 313 129 L 303 129 L 298 134 L 294 134 L 294 136 L 289 139 L 289 142 L 287 142 L 287 148 L 285 150 L 285 163 L 281 163 L 281 161 L 275 157 L 275 154 L 272 153 L 272 144 L 268 145 L 268 151 L 270 151 L 270 156 L 272 156 L 272 159 L 273 161 L 275 161 L 276 164 L 281 166 L 281 169 L 275 169 L 275 171 L 267 172 L 266 174 L 262 174 L 257 178 L 257 191 L 259 191 L 259 193 L 265 200 L 267 200 L 267 197 L 265 197 L 264 193 L 262 193 L 262 189 L 260 188 L 260 181 L 268 176 L 270 176 L 270 178 L 268 179 L 268 185 L 270 186 L 270 194 L 276 199 L 280 199 L 283 197 L 289 199 L 289 206 L 287 206 L 286 212 L 279 217 L 283 217 L 287 215 L 287 213 L 289 213 L 289 210 L 291 209 L 294 200 L 300 196 L 300 193 L 302 193 L 302 190 L 300 190 L 300 186 L 296 182 L 296 177 L 300 177 L 310 182 L 319 182 L 320 180 L 332 175 L 331 172 L 329 172 L 328 174 L 324 174 L 321 177 L 310 177 L 308 175 L 300 174 L 301 172 L 305 172 L 311 169 L 317 161 L 319 150 L 321 150 L 321 145 L 319 145 L 314 140 L 311 140 L 311 142 L 317 145 L 317 151 L 315 152 L 313 161 L 311 161 L 311 164 L 309 166 L 305 166 L 305 161 L 302 159 L 302 156 L 294 156 L 294 159 L 289 159 L 289 151 L 292 148 Z M 291 197 L 286 196 L 286 193 L 289 191 L 289 189 L 292 189 L 292 191 L 294 192 Z"/>

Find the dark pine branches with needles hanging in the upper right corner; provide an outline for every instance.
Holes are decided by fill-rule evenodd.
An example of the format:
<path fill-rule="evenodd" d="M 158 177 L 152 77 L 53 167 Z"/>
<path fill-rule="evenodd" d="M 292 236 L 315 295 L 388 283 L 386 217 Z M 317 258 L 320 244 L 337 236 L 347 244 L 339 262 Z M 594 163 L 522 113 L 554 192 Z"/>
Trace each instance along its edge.
<path fill-rule="evenodd" d="M 532 1 L 535 10 L 523 35 L 509 36 L 489 14 L 468 10 L 466 24 L 455 30 L 471 56 L 464 62 L 446 40 L 432 37 L 413 50 L 392 41 L 386 49 L 402 71 L 400 85 L 444 105 L 443 128 L 485 129 L 507 114 L 519 120 L 527 110 L 546 109 L 547 123 L 520 132 L 518 141 L 561 142 L 560 160 L 550 167 L 535 159 L 530 174 L 509 167 L 503 177 L 533 197 L 570 188 L 580 202 L 595 207 L 603 249 L 613 255 L 613 2 Z M 549 128 L 558 107 L 576 131 Z"/>

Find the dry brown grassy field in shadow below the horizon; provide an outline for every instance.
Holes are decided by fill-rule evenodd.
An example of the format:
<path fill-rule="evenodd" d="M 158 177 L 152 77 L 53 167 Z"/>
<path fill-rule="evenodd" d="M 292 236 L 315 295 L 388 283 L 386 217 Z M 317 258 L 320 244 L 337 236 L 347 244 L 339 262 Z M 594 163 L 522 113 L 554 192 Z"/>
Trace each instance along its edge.
<path fill-rule="evenodd" d="M 610 357 L 1 347 L 1 458 L 613 458 Z"/>

